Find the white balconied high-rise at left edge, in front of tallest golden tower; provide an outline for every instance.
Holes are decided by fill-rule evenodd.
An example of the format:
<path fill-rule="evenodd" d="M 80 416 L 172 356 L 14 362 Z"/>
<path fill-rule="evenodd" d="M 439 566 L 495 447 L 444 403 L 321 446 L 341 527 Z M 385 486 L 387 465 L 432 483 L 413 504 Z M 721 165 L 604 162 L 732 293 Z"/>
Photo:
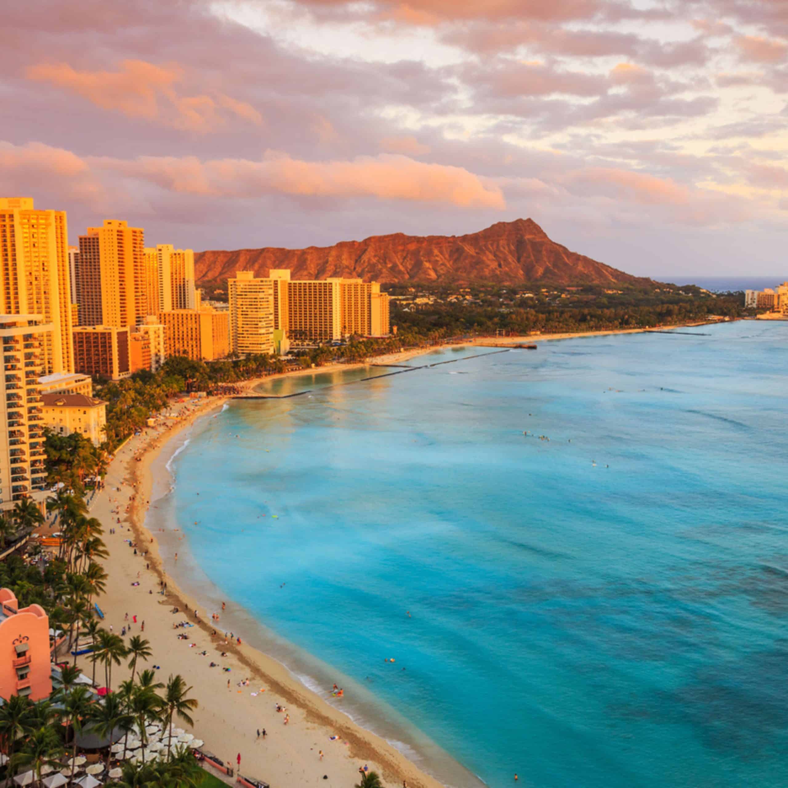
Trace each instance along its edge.
<path fill-rule="evenodd" d="M 0 509 L 44 488 L 44 437 L 39 376 L 54 327 L 39 314 L 0 315 Z"/>

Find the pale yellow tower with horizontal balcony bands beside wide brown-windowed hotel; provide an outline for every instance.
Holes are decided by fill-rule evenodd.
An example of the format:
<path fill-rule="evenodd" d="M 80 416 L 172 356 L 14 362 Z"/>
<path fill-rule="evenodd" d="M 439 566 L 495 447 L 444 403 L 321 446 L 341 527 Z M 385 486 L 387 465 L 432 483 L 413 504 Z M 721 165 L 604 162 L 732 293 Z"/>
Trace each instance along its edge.
<path fill-rule="evenodd" d="M 278 282 L 255 279 L 252 271 L 236 271 L 230 279 L 230 350 L 233 353 L 273 353 L 273 288 Z"/>

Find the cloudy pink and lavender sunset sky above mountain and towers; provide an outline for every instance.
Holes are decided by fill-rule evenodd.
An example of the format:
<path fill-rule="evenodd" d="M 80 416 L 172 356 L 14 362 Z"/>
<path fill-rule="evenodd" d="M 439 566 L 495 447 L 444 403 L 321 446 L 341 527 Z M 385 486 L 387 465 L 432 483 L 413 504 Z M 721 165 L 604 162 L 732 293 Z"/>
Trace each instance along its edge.
<path fill-rule="evenodd" d="M 0 195 L 146 243 L 531 217 L 654 277 L 788 274 L 788 0 L 26 0 Z"/>

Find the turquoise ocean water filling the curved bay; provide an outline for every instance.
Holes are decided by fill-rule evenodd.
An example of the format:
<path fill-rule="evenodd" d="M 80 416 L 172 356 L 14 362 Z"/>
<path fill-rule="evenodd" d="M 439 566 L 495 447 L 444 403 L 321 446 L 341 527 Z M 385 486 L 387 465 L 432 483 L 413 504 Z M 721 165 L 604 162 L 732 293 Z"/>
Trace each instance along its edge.
<path fill-rule="evenodd" d="M 788 323 L 686 330 L 233 403 L 192 556 L 490 786 L 784 786 Z"/>

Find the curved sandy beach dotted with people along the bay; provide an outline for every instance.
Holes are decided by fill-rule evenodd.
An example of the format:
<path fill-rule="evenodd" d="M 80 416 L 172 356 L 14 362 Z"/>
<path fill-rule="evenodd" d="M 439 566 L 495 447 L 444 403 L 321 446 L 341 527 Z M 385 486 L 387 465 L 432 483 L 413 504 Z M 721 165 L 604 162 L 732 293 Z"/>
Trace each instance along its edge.
<path fill-rule="evenodd" d="M 462 344 L 537 344 L 543 340 L 641 330 L 479 338 Z M 444 347 L 448 346 L 413 348 L 370 359 L 370 362 L 398 364 Z M 319 370 L 299 370 L 286 375 L 358 366 L 364 365 L 332 364 Z M 258 383 L 247 381 L 244 387 L 251 391 Z M 327 786 L 347 788 L 357 781 L 359 767 L 368 764 L 388 785 L 400 786 L 406 780 L 407 785 L 414 788 L 439 786 L 437 779 L 421 771 L 388 742 L 356 725 L 339 709 L 307 689 L 277 660 L 247 643 L 239 645 L 225 641 L 221 618 L 213 621 L 210 618 L 213 610 L 206 610 L 205 600 L 190 597 L 179 589 L 168 574 L 173 567 L 163 565 L 158 535 L 144 527 L 153 487 L 152 466 L 162 449 L 172 454 L 174 439 L 196 419 L 216 414 L 226 399 L 206 397 L 173 405 L 170 411 L 173 418 L 162 419 L 164 423 L 160 426 L 132 437 L 110 463 L 106 486 L 91 502 L 91 515 L 105 526 L 105 541 L 110 552 L 105 562 L 109 575 L 106 593 L 97 600 L 105 614 L 104 626 L 111 626 L 116 633 L 126 627 L 127 634 L 143 634 L 151 641 L 154 656 L 143 667 L 159 666 L 157 672 L 161 681 L 175 673 L 184 676 L 193 687 L 191 694 L 199 701 L 191 732 L 203 739 L 206 749 L 233 766 L 240 753 L 240 771 L 245 775 L 274 786 L 293 785 L 296 780 L 319 780 Z M 110 533 L 110 528 L 115 533 Z M 167 584 L 163 594 L 162 582 Z M 177 613 L 173 613 L 174 608 L 178 608 Z M 195 609 L 199 611 L 199 619 L 195 618 Z M 221 611 L 218 612 L 221 615 Z M 194 626 L 173 628 L 174 624 L 184 621 Z M 188 640 L 178 639 L 179 634 L 188 635 Z M 222 652 L 227 656 L 221 656 Z M 210 667 L 211 662 L 217 663 L 217 667 Z M 91 675 L 90 662 L 84 660 L 82 667 Z M 230 670 L 225 671 L 225 668 Z M 128 678 L 128 672 L 125 666 L 116 667 L 113 685 L 117 687 L 121 680 Z M 99 668 L 97 678 L 101 675 Z M 277 712 L 277 704 L 286 710 Z M 287 724 L 285 719 L 288 719 Z M 183 723 L 178 724 L 188 728 Z M 263 729 L 266 737 L 258 739 L 257 731 Z M 327 779 L 323 779 L 323 775 L 327 775 Z"/>

